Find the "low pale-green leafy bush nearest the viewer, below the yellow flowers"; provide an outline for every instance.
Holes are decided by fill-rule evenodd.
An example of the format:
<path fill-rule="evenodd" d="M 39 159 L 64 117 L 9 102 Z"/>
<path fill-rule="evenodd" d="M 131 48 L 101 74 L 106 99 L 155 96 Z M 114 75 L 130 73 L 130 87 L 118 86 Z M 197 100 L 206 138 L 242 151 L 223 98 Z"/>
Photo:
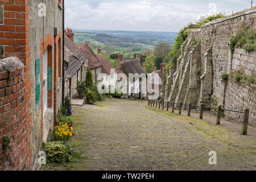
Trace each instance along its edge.
<path fill-rule="evenodd" d="M 67 163 L 71 161 L 72 151 L 61 142 L 47 142 L 44 146 L 47 163 Z"/>

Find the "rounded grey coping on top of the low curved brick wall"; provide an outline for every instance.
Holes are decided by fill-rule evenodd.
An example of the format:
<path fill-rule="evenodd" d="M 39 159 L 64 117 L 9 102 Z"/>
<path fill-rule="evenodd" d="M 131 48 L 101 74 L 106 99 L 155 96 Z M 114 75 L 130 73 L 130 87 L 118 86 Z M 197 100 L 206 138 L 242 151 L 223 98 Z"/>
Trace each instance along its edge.
<path fill-rule="evenodd" d="M 0 73 L 6 72 L 6 71 L 13 71 L 17 68 L 24 67 L 24 64 L 18 57 L 7 57 L 5 59 L 0 59 Z"/>

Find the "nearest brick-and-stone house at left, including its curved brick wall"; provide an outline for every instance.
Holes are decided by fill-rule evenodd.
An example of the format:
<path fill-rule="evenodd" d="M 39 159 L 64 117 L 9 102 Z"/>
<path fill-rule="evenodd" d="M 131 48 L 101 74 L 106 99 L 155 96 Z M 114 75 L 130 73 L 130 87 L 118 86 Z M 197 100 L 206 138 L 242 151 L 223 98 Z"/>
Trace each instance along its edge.
<path fill-rule="evenodd" d="M 0 171 L 40 168 L 63 102 L 63 3 L 0 1 Z"/>

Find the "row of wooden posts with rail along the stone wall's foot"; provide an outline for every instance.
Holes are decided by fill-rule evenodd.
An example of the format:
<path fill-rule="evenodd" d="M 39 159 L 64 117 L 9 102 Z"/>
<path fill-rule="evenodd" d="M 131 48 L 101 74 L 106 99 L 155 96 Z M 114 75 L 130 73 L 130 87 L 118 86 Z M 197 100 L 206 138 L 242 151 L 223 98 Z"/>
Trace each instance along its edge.
<path fill-rule="evenodd" d="M 164 100 L 148 100 L 148 105 L 149 106 L 153 106 L 153 107 L 158 107 L 160 109 L 160 105 L 162 104 L 162 110 L 164 110 L 165 106 L 164 106 Z M 200 104 L 198 105 L 192 105 L 191 102 L 189 102 L 188 104 L 183 104 L 182 102 L 176 103 L 174 101 L 171 102 L 171 111 L 172 113 L 174 113 L 175 110 L 175 104 L 179 104 L 179 114 L 181 114 L 181 109 L 183 105 L 187 105 L 188 106 L 188 116 L 191 115 L 191 107 L 199 107 L 200 110 L 200 119 L 203 119 L 203 114 L 204 114 L 204 108 L 208 108 L 208 109 L 216 109 L 217 110 L 217 114 L 216 114 L 216 125 L 220 125 L 220 120 L 221 120 L 221 111 L 230 111 L 230 112 L 236 112 L 236 113 L 243 113 L 243 122 L 242 122 L 242 133 L 241 135 L 246 135 L 247 134 L 247 125 L 248 125 L 248 120 L 249 120 L 249 109 L 245 109 L 244 111 L 238 111 L 238 110 L 230 110 L 230 109 L 222 109 L 221 105 L 215 106 L 215 107 L 211 107 L 211 106 L 205 106 L 204 104 Z M 169 106 L 170 103 L 169 101 L 166 104 L 166 110 L 169 110 Z"/>

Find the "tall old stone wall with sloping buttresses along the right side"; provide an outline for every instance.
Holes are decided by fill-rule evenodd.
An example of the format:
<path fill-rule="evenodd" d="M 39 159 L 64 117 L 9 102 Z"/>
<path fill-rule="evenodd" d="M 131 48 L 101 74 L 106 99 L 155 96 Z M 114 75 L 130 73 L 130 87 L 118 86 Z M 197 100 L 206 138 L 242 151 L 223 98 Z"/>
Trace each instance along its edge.
<path fill-rule="evenodd" d="M 243 78 L 237 82 L 234 78 L 237 71 L 247 78 L 256 76 L 256 53 L 229 48 L 230 35 L 236 35 L 244 24 L 256 29 L 255 7 L 189 30 L 177 64 L 167 76 L 165 100 L 220 104 L 225 109 L 240 111 L 249 108 L 249 125 L 256 126 L 255 81 Z M 222 73 L 229 74 L 227 81 L 222 80 Z M 223 114 L 236 122 L 242 121 L 241 113 Z"/>

